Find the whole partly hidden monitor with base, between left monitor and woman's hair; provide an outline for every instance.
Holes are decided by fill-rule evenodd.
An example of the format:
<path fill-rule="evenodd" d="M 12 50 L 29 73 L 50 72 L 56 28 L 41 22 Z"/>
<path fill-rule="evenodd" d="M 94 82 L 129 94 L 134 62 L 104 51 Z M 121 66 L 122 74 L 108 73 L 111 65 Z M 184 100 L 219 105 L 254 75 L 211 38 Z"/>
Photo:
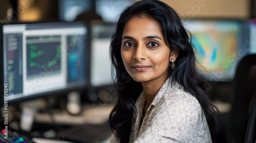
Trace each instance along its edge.
<path fill-rule="evenodd" d="M 88 26 L 88 46 L 90 46 L 90 69 L 88 98 L 90 102 L 115 102 L 111 60 L 110 42 L 115 30 L 115 22 L 93 20 Z"/>

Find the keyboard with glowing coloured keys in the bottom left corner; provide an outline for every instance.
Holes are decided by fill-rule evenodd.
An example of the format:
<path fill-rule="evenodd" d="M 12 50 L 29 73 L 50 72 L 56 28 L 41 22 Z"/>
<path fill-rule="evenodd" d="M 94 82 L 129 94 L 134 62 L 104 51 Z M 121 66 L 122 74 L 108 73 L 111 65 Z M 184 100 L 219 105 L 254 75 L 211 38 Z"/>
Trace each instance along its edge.
<path fill-rule="evenodd" d="M 0 133 L 0 143 L 35 143 L 31 138 L 20 135 L 17 132 L 8 132 L 8 136 Z"/>

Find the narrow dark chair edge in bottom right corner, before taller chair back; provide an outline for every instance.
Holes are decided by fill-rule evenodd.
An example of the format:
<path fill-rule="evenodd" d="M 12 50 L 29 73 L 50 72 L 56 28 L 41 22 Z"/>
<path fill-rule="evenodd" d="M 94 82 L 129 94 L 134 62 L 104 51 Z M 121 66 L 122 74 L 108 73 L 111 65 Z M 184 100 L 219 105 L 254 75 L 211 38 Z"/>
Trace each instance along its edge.
<path fill-rule="evenodd" d="M 256 143 L 256 91 L 254 92 L 248 112 L 247 126 L 244 131 L 243 140 L 245 143 Z"/>

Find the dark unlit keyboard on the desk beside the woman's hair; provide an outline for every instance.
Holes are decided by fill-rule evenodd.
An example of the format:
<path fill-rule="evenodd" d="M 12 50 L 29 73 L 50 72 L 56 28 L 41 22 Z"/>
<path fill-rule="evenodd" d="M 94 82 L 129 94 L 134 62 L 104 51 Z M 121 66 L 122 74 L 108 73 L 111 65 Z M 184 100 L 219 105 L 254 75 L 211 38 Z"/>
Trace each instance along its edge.
<path fill-rule="evenodd" d="M 101 142 L 111 136 L 107 124 L 85 124 L 57 133 L 58 140 L 76 143 Z"/>

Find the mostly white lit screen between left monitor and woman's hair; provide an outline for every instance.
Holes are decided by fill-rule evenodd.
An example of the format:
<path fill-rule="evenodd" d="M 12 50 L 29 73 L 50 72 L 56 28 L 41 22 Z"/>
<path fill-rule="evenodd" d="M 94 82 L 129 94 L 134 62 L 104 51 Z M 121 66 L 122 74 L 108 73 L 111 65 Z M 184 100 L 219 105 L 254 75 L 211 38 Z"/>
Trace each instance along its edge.
<path fill-rule="evenodd" d="M 94 21 L 91 30 L 91 85 L 94 87 L 111 85 L 110 42 L 115 24 Z"/>

